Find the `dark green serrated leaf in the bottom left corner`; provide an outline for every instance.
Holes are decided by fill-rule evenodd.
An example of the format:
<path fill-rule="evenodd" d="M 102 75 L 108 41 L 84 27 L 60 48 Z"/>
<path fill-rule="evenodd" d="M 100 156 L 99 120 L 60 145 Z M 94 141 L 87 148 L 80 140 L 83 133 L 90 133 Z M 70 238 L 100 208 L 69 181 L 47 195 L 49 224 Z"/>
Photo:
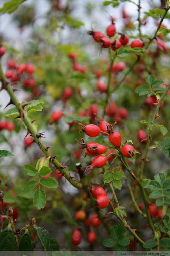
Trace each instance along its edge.
<path fill-rule="evenodd" d="M 17 251 L 16 237 L 11 228 L 7 227 L 0 233 L 0 251 Z"/>

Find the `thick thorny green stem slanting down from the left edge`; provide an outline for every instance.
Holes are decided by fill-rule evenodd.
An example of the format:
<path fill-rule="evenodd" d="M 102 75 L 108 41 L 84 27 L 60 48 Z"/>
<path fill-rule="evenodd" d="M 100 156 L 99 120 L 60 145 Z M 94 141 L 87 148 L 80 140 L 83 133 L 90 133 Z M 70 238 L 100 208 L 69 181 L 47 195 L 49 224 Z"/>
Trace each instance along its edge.
<path fill-rule="evenodd" d="M 10 95 L 10 98 L 11 98 L 13 104 L 16 106 L 18 112 L 20 113 L 20 111 L 21 111 L 23 113 L 23 117 L 22 117 L 23 122 L 26 125 L 26 127 L 30 130 L 31 135 L 34 138 L 35 142 L 37 143 L 39 148 L 43 151 L 43 153 L 45 154 L 46 157 L 52 157 L 51 152 L 49 150 L 46 150 L 47 147 L 43 143 L 41 138 L 37 138 L 37 136 L 36 136 L 37 131 L 35 129 L 35 126 L 31 123 L 29 117 L 27 116 L 27 112 L 24 110 L 22 105 L 19 103 L 19 100 L 16 97 L 16 95 L 14 94 L 14 91 L 12 90 L 11 85 L 6 82 L 4 73 L 2 71 L 1 64 L 0 64 L 0 79 L 1 79 L 2 83 L 5 84 L 5 89 L 7 90 L 8 94 Z M 56 166 L 58 168 L 58 170 L 63 174 L 63 176 L 73 185 L 73 187 L 75 187 L 75 188 L 83 187 L 83 184 L 75 181 L 74 178 L 70 176 L 70 174 L 67 172 L 67 170 L 64 169 L 64 167 L 61 165 L 61 163 L 56 158 L 52 158 L 51 162 L 53 163 L 54 166 Z"/>

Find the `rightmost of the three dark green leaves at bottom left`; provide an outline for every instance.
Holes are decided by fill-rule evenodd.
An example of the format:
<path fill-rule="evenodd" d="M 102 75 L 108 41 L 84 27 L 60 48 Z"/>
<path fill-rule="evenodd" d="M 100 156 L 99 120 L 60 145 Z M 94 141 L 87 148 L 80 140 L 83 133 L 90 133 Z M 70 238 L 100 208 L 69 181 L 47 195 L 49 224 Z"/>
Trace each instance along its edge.
<path fill-rule="evenodd" d="M 46 251 L 60 251 L 57 240 L 45 228 L 36 227 L 36 230 Z"/>

